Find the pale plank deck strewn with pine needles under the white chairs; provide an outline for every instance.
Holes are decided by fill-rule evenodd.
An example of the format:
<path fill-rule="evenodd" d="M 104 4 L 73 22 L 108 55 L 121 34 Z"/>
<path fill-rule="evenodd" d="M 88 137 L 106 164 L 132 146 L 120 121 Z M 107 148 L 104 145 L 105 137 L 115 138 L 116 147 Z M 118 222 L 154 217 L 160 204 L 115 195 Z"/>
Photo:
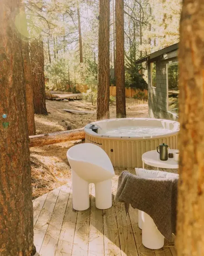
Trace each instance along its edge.
<path fill-rule="evenodd" d="M 133 169 L 128 169 L 134 172 Z M 34 244 L 41 256 L 176 256 L 173 244 L 165 241 L 160 250 L 142 245 L 137 210 L 130 207 L 126 216 L 124 206 L 114 202 L 119 168 L 112 179 L 113 206 L 108 210 L 95 207 L 95 188 L 90 185 L 90 208 L 72 208 L 71 181 L 35 199 Z"/>

